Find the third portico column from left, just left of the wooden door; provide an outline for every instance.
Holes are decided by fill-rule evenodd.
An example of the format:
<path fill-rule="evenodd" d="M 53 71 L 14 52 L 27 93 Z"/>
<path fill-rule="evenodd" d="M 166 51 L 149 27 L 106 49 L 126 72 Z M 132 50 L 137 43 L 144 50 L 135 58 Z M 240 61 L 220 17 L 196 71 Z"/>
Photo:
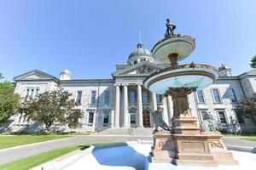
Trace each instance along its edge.
<path fill-rule="evenodd" d="M 142 85 L 137 84 L 137 114 L 138 114 L 138 127 L 143 127 L 143 97 Z"/>

